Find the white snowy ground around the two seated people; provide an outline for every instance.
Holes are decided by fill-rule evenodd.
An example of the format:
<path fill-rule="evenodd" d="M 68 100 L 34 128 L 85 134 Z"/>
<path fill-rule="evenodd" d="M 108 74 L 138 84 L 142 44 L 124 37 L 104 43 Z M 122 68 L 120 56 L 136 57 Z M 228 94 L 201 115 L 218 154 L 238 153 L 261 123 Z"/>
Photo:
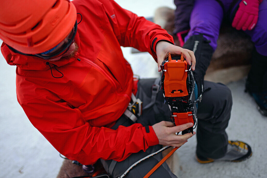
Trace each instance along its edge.
<path fill-rule="evenodd" d="M 164 0 L 117 2 L 125 9 L 145 17 L 151 17 L 160 6 L 174 8 L 172 1 Z M 123 53 L 135 74 L 142 78 L 160 75 L 156 63 L 148 53 L 131 54 L 130 50 L 123 48 Z M 244 84 L 245 79 L 227 85 L 233 94 L 233 108 L 227 133 L 231 140 L 238 139 L 249 143 L 253 151 L 252 157 L 241 163 L 198 164 L 194 160 L 196 137 L 193 137 L 176 151 L 180 160 L 180 171 L 176 172 L 178 177 L 267 177 L 267 117 L 257 111 L 253 99 L 244 93 Z M 0 86 L 0 178 L 56 177 L 63 160 L 56 149 L 32 126 L 18 104 L 15 66 L 8 65 L 2 54 Z"/>

